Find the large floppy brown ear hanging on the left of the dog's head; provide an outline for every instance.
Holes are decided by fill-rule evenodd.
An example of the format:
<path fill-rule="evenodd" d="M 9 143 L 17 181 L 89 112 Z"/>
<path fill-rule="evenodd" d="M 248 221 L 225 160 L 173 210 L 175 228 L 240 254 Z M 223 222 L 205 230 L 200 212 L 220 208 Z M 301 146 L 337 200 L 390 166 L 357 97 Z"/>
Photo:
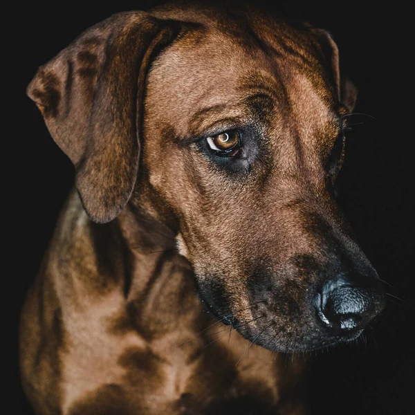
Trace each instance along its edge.
<path fill-rule="evenodd" d="M 179 26 L 145 12 L 114 15 L 41 66 L 28 86 L 75 165 L 77 190 L 95 222 L 114 219 L 131 196 L 147 70 Z"/>

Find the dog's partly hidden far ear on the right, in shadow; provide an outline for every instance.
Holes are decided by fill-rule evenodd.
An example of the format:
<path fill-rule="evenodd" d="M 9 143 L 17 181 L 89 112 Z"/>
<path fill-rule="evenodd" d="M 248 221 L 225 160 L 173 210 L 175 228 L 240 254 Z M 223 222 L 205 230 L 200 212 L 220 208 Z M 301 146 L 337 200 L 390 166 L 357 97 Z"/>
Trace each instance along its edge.
<path fill-rule="evenodd" d="M 311 28 L 311 31 L 317 37 L 317 47 L 322 52 L 326 62 L 326 71 L 331 77 L 331 83 L 338 93 L 339 100 L 351 113 L 356 104 L 358 89 L 348 77 L 340 77 L 338 46 L 326 30 Z"/>

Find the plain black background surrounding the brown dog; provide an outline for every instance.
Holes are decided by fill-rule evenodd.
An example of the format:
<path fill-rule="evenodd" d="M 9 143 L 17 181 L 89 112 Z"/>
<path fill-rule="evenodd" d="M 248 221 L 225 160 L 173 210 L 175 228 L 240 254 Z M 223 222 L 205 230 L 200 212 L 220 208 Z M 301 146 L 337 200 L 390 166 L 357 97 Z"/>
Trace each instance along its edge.
<path fill-rule="evenodd" d="M 259 1 L 260 2 L 260 1 Z M 53 232 L 59 208 L 73 184 L 73 167 L 50 138 L 42 117 L 25 95 L 37 67 L 82 30 L 122 10 L 145 10 L 156 1 L 118 1 L 96 6 L 36 2 L 3 15 L 14 27 L 11 85 L 17 100 L 12 127 L 17 148 L 10 156 L 8 204 L 17 218 L 12 243 L 19 269 L 17 305 L 33 281 Z M 258 3 L 258 1 L 257 1 Z M 380 4 L 380 3 L 378 3 Z M 18 6 L 19 7 L 19 6 Z M 322 353 L 313 365 L 313 414 L 409 414 L 414 403 L 414 35 L 409 6 L 384 8 L 362 1 L 275 2 L 270 10 L 306 19 L 329 30 L 339 46 L 342 73 L 358 86 L 359 98 L 339 179 L 342 208 L 369 259 L 385 281 L 389 303 L 365 340 Z M 6 22 L 6 20 L 10 20 Z M 18 33 L 18 36 L 14 36 Z M 10 45 L 9 45 L 10 46 Z M 9 66 L 9 65 L 8 65 Z M 6 82 L 8 83 L 8 82 Z M 6 85 L 7 86 L 7 85 Z M 370 117 L 369 117 L 370 116 Z M 3 157 L 8 158 L 6 154 Z M 9 172 L 10 174 L 10 172 Z M 20 176 L 23 174 L 23 176 Z M 8 179 L 8 182 L 9 179 Z M 12 215 L 13 216 L 13 215 Z M 6 221 L 8 221 L 6 216 Z M 17 239 L 16 239 L 17 238 Z M 16 259 L 15 259 L 16 261 Z M 23 268 L 23 269 L 22 269 Z M 392 297 L 394 296 L 394 297 Z M 396 298 L 398 297 L 398 298 Z M 17 320 L 16 326 L 17 326 Z M 17 361 L 14 365 L 17 374 Z M 17 379 L 17 411 L 30 414 Z"/>

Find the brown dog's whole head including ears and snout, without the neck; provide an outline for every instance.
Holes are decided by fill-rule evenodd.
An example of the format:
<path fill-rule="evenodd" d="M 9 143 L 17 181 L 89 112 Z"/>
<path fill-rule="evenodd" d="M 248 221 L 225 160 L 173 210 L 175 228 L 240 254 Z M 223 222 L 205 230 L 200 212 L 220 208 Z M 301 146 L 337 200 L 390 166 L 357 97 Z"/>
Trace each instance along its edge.
<path fill-rule="evenodd" d="M 201 298 L 269 349 L 356 338 L 384 306 L 336 206 L 355 90 L 323 30 L 252 9 L 167 6 L 86 31 L 28 93 L 86 212 L 151 201 Z"/>

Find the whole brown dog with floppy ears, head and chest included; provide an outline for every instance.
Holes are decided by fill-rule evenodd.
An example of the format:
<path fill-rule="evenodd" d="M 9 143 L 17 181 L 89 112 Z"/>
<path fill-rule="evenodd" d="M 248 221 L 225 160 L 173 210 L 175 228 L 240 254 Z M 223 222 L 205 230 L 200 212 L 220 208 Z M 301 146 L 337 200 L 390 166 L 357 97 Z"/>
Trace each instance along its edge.
<path fill-rule="evenodd" d="M 384 304 L 333 199 L 354 89 L 331 37 L 248 7 L 125 12 L 28 94 L 80 195 L 22 314 L 36 411 L 304 414 L 283 353 Z"/>

